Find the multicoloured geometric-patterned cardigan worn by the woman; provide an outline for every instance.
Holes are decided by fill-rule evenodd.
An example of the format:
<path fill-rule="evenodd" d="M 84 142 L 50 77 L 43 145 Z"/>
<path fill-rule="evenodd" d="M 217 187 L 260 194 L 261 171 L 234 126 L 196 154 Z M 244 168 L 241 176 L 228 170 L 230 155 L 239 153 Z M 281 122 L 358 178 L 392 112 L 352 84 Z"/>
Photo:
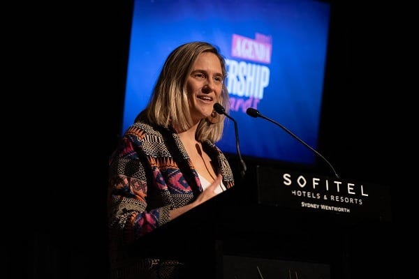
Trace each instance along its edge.
<path fill-rule="evenodd" d="M 233 187 L 233 172 L 226 157 L 214 143 L 202 144 L 216 172 L 222 174 L 224 186 Z M 147 123 L 134 123 L 128 128 L 110 156 L 110 278 L 147 278 L 145 274 L 157 268 L 171 278 L 173 271 L 165 270 L 165 262 L 135 258 L 128 248 L 141 236 L 168 223 L 170 209 L 189 204 L 202 191 L 198 173 L 177 133 Z"/>

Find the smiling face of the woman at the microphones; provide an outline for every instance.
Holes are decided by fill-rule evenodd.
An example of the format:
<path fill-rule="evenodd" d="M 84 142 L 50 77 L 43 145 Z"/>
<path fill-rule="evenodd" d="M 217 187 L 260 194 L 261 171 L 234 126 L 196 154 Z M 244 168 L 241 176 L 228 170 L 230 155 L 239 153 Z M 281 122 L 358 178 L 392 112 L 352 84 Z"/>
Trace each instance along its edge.
<path fill-rule="evenodd" d="M 211 52 L 203 52 L 193 64 L 186 81 L 189 107 L 195 123 L 211 115 L 222 88 L 223 72 L 218 57 Z"/>

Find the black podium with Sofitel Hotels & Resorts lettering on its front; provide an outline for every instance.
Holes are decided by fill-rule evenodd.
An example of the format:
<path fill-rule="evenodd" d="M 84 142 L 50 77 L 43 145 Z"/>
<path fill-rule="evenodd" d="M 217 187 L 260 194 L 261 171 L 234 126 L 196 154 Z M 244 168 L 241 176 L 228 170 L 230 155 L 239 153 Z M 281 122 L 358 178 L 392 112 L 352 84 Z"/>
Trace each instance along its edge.
<path fill-rule="evenodd" d="M 387 186 L 256 166 L 131 252 L 182 259 L 191 278 L 378 278 L 366 261 L 391 258 L 391 225 Z"/>

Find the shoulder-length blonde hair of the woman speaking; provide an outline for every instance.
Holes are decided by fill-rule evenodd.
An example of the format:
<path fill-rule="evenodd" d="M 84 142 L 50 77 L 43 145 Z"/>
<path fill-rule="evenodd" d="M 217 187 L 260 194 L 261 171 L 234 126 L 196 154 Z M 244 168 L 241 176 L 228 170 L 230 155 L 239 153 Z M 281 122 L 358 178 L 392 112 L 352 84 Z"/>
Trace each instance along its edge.
<path fill-rule="evenodd" d="M 215 54 L 221 63 L 223 74 L 223 87 L 217 103 L 223 105 L 228 113 L 228 91 L 226 88 L 226 61 L 215 47 L 210 43 L 191 42 L 180 45 L 170 52 L 163 64 L 163 69 L 152 91 L 152 96 L 145 110 L 140 112 L 135 121 L 147 120 L 159 126 L 172 126 L 177 132 L 188 130 L 193 126 L 189 111 L 189 100 L 186 93 L 186 80 L 196 59 L 203 52 Z M 210 140 L 217 142 L 221 139 L 224 127 L 224 115 L 218 115 L 219 121 L 212 123 L 201 119 L 196 130 L 196 140 Z"/>

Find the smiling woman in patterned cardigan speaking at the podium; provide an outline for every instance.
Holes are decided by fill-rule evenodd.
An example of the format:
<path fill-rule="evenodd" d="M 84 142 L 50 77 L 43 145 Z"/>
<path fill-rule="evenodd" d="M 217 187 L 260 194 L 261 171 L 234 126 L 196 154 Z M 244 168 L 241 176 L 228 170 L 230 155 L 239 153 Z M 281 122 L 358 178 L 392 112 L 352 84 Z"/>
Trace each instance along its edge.
<path fill-rule="evenodd" d="M 110 158 L 110 278 L 183 278 L 187 264 L 133 257 L 128 249 L 234 186 L 214 144 L 224 121 L 214 103 L 228 112 L 226 75 L 223 56 L 209 43 L 180 45 L 166 59 L 149 104 Z"/>

